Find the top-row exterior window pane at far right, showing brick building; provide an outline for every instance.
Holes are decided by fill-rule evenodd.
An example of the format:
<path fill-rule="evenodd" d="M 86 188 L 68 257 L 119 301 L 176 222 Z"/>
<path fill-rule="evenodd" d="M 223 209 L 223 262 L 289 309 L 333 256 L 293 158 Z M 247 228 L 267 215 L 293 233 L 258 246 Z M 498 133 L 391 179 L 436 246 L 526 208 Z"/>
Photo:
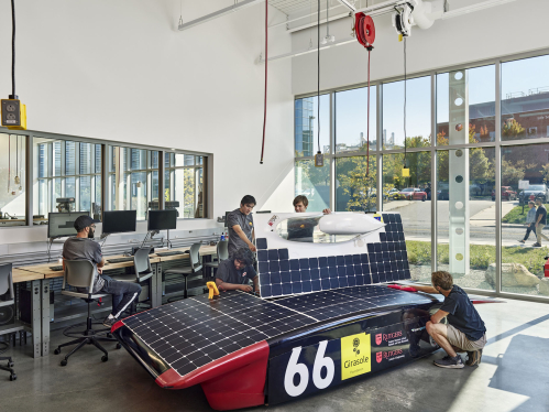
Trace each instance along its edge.
<path fill-rule="evenodd" d="M 502 63 L 502 140 L 549 137 L 549 55 Z"/>

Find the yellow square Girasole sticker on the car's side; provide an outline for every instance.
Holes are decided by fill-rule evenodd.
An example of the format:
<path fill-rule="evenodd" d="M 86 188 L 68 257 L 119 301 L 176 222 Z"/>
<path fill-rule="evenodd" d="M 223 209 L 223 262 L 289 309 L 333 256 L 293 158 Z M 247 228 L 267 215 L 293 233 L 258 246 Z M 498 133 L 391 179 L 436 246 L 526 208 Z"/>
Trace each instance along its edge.
<path fill-rule="evenodd" d="M 341 338 L 341 380 L 372 370 L 370 335 L 358 334 Z"/>

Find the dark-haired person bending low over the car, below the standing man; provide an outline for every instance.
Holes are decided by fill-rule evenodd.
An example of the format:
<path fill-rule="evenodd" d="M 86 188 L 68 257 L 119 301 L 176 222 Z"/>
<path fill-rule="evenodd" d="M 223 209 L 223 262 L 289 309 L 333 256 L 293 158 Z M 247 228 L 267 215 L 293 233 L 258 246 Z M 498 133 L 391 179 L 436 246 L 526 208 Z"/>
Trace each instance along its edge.
<path fill-rule="evenodd" d="M 260 293 L 259 277 L 253 269 L 254 258 L 252 251 L 246 248 L 238 249 L 229 259 L 219 262 L 216 272 L 216 284 L 222 291 L 243 291 Z M 250 285 L 253 282 L 253 289 Z"/>

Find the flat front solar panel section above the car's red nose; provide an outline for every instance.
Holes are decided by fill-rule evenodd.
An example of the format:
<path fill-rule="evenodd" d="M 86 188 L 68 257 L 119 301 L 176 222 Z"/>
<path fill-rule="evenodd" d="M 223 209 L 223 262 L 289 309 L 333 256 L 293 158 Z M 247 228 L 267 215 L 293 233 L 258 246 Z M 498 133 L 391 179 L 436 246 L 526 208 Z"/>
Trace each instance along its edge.
<path fill-rule="evenodd" d="M 241 292 L 186 299 L 123 321 L 180 376 L 315 318 Z"/>

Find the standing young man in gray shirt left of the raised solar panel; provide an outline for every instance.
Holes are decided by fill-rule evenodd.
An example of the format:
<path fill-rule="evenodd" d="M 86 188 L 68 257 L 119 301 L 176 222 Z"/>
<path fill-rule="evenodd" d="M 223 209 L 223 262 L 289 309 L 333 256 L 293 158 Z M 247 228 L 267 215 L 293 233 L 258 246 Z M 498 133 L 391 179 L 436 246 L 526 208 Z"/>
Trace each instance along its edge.
<path fill-rule="evenodd" d="M 255 206 L 255 198 L 245 195 L 240 200 L 240 208 L 227 215 L 227 227 L 229 228 L 229 256 L 232 256 L 239 248 L 248 247 L 255 251 L 253 245 L 254 230 L 252 210 Z"/>

